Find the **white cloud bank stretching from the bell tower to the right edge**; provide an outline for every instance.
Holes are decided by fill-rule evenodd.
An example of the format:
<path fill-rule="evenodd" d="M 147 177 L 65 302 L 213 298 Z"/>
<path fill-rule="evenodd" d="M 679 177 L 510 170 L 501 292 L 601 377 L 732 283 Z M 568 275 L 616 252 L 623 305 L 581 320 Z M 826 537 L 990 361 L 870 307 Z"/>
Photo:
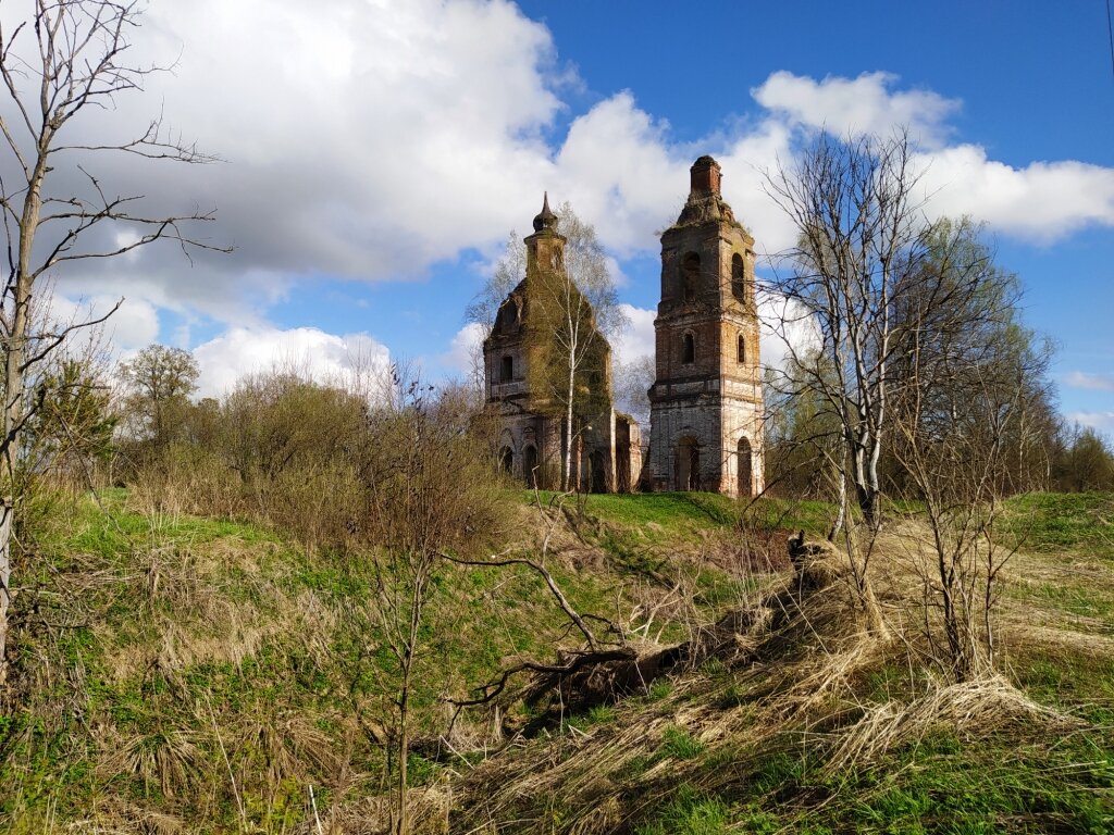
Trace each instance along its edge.
<path fill-rule="evenodd" d="M 1015 167 L 990 159 L 978 145 L 949 145 L 948 118 L 960 102 L 897 85 L 898 78 L 886 72 L 818 81 L 781 71 L 752 91 L 768 117 L 726 148 L 721 161 L 743 175 L 743 194 L 732 193 L 730 179 L 724 190 L 755 226 L 760 248 L 776 252 L 792 243 L 792 226 L 763 194 L 756 173 L 791 161 L 795 131 L 802 128 L 883 137 L 908 128 L 920 149 L 915 169 L 922 173 L 920 194 L 932 216 L 970 215 L 996 232 L 1039 243 L 1089 225 L 1114 225 L 1114 169 L 1076 160 Z"/>

